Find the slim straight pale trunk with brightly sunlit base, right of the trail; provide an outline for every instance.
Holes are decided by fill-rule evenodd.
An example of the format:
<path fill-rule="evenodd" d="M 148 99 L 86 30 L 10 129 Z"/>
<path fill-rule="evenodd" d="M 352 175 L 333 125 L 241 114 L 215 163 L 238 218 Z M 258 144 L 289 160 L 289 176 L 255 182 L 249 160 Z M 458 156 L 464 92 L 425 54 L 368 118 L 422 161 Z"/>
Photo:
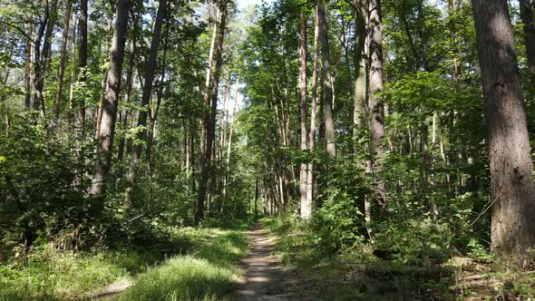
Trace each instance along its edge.
<path fill-rule="evenodd" d="M 299 44 L 299 93 L 301 100 L 301 151 L 308 150 L 308 141 L 306 139 L 306 15 L 301 13 L 301 31 L 300 31 L 300 44 Z M 301 196 L 301 218 L 310 218 L 311 203 L 306 199 L 306 179 L 307 179 L 307 163 L 301 163 L 301 170 L 299 174 L 299 192 Z"/>

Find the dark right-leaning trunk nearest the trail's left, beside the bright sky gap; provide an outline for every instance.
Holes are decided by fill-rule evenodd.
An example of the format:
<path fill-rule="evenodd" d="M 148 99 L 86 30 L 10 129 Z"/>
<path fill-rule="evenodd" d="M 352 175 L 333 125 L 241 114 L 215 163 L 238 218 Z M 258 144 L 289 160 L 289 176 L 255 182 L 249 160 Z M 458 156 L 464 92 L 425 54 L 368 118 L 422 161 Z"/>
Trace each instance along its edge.
<path fill-rule="evenodd" d="M 220 20 L 219 20 L 219 33 L 218 33 L 218 44 L 216 48 L 216 64 L 214 67 L 214 77 L 212 84 L 211 92 L 211 113 L 209 120 L 207 122 L 207 135 L 206 135 L 206 153 L 205 156 L 201 156 L 201 159 L 204 159 L 201 162 L 201 171 L 200 171 L 200 185 L 199 185 L 199 194 L 197 198 L 197 210 L 195 212 L 195 223 L 199 223 L 204 218 L 204 199 L 206 199 L 206 192 L 208 189 L 209 181 L 209 170 L 210 170 L 210 157 L 212 153 L 212 144 L 216 134 L 216 115 L 218 112 L 218 92 L 219 92 L 219 73 L 221 70 L 221 65 L 223 63 L 222 54 L 223 54 L 223 43 L 225 41 L 225 24 L 227 19 L 227 0 L 221 0 L 220 3 Z M 204 157 L 204 158 L 202 158 Z"/>

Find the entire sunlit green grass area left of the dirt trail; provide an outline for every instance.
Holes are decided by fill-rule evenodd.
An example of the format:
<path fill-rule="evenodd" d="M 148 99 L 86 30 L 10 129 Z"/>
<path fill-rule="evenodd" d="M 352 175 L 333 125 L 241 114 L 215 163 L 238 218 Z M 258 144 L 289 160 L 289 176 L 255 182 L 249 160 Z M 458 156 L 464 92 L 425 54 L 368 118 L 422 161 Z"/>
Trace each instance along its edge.
<path fill-rule="evenodd" d="M 0 263 L 0 301 L 87 298 L 121 280 L 135 283 L 122 300 L 219 299 L 235 286 L 236 263 L 247 252 L 240 230 L 171 228 L 173 245 L 162 253 L 101 249 L 58 252 L 47 246 Z"/>

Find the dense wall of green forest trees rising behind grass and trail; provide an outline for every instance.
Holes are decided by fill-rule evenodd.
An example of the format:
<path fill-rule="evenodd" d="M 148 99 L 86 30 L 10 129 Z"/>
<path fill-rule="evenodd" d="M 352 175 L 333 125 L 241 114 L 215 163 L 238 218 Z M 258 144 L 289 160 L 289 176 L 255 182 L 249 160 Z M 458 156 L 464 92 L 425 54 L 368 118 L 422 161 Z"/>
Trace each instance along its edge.
<path fill-rule="evenodd" d="M 254 209 L 299 216 L 333 251 L 442 260 L 475 244 L 528 264 L 530 1 L 254 9 L 5 2 L 0 251 Z"/>

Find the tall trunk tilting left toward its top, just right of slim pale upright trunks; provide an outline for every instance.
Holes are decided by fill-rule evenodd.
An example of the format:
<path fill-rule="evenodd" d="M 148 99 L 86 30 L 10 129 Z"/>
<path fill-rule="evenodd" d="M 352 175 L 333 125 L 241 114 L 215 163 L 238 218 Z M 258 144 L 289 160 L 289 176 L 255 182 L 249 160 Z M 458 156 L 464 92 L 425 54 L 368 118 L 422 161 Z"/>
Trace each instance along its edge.
<path fill-rule="evenodd" d="M 319 36 L 321 41 L 323 71 L 322 90 L 324 101 L 326 150 L 332 158 L 336 158 L 335 120 L 333 117 L 333 76 L 331 74 L 329 37 L 327 31 L 326 10 L 323 0 L 317 0 L 317 15 L 319 16 Z"/>

